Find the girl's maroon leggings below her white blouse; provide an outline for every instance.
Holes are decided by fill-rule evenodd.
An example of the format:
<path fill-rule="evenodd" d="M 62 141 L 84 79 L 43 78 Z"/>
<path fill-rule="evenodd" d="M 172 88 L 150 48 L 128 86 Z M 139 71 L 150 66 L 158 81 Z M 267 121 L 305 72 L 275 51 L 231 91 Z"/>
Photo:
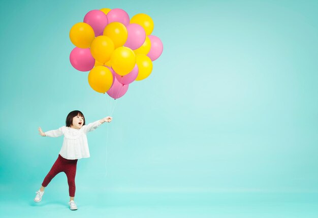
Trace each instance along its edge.
<path fill-rule="evenodd" d="M 68 177 L 70 197 L 75 197 L 76 164 L 77 159 L 68 160 L 58 154 L 58 158 L 53 164 L 50 172 L 44 178 L 42 186 L 46 187 L 50 183 L 52 178 L 54 178 L 54 176 L 56 176 L 60 172 L 65 172 L 66 176 Z"/>

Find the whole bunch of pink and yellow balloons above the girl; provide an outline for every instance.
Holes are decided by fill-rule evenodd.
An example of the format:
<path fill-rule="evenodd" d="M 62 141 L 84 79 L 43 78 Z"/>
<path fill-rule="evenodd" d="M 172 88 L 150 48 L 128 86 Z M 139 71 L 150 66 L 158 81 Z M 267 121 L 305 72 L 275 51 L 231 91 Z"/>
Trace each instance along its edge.
<path fill-rule="evenodd" d="M 113 99 L 122 97 L 130 83 L 147 78 L 152 61 L 163 51 L 161 40 L 150 35 L 153 21 L 146 14 L 131 19 L 122 9 L 89 11 L 83 22 L 70 30 L 76 46 L 70 54 L 71 65 L 90 71 L 90 87 Z"/>

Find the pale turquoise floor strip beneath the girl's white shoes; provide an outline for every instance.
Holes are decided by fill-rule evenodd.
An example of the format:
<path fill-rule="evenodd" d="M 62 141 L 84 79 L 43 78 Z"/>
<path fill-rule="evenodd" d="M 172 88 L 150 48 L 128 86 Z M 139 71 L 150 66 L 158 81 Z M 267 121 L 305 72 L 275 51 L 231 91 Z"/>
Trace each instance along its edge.
<path fill-rule="evenodd" d="M 77 191 L 71 211 L 65 188 L 3 190 L 0 217 L 318 217 L 317 193 Z"/>

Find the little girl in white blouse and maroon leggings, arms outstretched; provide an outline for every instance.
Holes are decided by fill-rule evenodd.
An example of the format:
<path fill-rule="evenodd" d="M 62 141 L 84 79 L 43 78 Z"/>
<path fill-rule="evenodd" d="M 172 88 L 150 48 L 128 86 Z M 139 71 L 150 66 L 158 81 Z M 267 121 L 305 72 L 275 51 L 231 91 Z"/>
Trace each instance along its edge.
<path fill-rule="evenodd" d="M 74 202 L 76 164 L 78 159 L 90 157 L 86 134 L 96 130 L 103 122 L 110 121 L 112 121 L 112 117 L 107 116 L 101 120 L 85 125 L 83 113 L 75 110 L 70 112 L 66 117 L 66 126 L 45 133 L 42 131 L 41 127 L 39 127 L 39 134 L 41 136 L 58 137 L 64 135 L 64 140 L 57 160 L 53 164 L 50 172 L 44 178 L 40 190 L 36 192 L 35 202 L 40 202 L 42 200 L 44 188 L 50 183 L 54 176 L 60 172 L 65 172 L 69 184 L 70 209 L 77 210 L 77 206 Z"/>

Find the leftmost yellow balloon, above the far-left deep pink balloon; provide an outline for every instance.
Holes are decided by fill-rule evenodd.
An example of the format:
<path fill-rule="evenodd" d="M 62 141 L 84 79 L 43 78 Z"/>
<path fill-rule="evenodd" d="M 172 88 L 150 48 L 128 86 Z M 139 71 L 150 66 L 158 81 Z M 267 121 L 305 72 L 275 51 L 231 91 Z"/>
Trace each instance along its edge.
<path fill-rule="evenodd" d="M 93 28 L 87 23 L 76 23 L 70 30 L 71 42 L 79 48 L 89 48 L 95 38 Z"/>

